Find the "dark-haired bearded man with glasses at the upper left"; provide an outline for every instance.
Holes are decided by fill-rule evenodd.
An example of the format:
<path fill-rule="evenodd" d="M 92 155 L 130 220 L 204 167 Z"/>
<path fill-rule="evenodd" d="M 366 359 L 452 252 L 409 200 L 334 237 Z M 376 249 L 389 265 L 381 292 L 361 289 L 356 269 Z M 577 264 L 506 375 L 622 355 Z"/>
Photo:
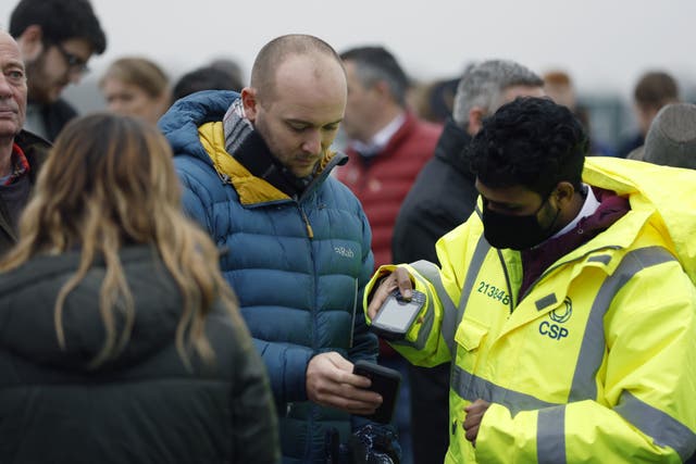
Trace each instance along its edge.
<path fill-rule="evenodd" d="M 25 127 L 53 140 L 77 112 L 61 99 L 87 73 L 107 38 L 88 0 L 21 0 L 10 17 L 28 76 Z"/>

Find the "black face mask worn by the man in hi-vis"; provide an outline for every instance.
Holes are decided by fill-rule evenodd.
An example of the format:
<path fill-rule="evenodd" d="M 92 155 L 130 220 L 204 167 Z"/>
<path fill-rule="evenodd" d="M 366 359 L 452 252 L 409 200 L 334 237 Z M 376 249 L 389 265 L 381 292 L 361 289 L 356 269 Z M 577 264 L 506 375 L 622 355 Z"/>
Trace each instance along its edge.
<path fill-rule="evenodd" d="M 492 247 L 512 250 L 527 250 L 533 248 L 554 234 L 554 225 L 561 210 L 556 211 L 554 221 L 542 227 L 536 215 L 542 211 L 548 199 L 534 213 L 524 216 L 500 214 L 488 209 L 488 202 L 483 201 L 483 235 Z"/>

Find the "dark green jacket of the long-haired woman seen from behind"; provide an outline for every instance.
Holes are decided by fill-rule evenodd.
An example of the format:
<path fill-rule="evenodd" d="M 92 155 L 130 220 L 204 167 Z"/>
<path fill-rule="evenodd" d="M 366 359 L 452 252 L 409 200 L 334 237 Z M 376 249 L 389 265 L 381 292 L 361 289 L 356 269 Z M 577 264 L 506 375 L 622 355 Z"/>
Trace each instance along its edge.
<path fill-rule="evenodd" d="M 121 252 L 136 306 L 125 350 L 88 366 L 104 341 L 100 260 L 65 300 L 59 348 L 54 302 L 78 261 L 42 255 L 0 274 L 0 461 L 276 462 L 271 392 L 248 331 L 214 311 L 206 331 L 215 364 L 194 356 L 189 372 L 175 348 L 182 298 L 152 248 Z"/>

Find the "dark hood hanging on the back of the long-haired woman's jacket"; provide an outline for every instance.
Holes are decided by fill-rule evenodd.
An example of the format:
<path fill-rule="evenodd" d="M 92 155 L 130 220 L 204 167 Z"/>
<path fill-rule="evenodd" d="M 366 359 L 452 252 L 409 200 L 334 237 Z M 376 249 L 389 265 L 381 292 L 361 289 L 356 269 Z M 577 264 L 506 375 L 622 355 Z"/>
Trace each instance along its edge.
<path fill-rule="evenodd" d="M 97 371 L 132 365 L 172 343 L 182 314 L 178 288 L 153 248 L 132 247 L 122 250 L 120 256 L 135 300 L 135 322 L 124 351 Z M 64 350 L 58 343 L 53 322 L 55 299 L 78 263 L 79 252 L 41 255 L 0 275 L 0 344 L 3 349 L 40 364 L 94 371 L 89 362 L 105 340 L 99 312 L 99 291 L 105 274 L 103 260 L 95 260 L 85 278 L 65 299 Z M 116 312 L 115 325 L 124 327 L 123 314 Z"/>

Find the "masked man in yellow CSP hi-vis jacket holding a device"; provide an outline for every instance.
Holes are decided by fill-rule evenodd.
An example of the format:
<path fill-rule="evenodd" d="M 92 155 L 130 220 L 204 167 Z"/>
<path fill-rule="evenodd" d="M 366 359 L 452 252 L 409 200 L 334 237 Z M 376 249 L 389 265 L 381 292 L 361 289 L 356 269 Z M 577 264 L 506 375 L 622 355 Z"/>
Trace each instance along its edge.
<path fill-rule="evenodd" d="M 452 361 L 446 463 L 678 463 L 696 449 L 696 172 L 585 162 L 563 106 L 518 99 L 471 150 L 477 211 L 365 291 L 425 304 L 393 346 Z M 691 279 L 689 279 L 691 277 Z"/>

